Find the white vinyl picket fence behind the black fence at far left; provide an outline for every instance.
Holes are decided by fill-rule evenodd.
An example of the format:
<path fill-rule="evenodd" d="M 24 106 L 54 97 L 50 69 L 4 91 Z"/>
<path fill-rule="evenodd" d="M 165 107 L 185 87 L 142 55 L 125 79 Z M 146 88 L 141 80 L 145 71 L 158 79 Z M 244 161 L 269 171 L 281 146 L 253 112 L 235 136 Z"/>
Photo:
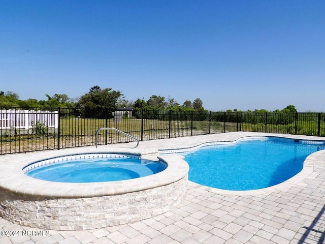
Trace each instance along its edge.
<path fill-rule="evenodd" d="M 58 111 L 0 110 L 0 129 L 29 130 L 33 124 L 41 123 L 48 128 L 57 129 Z"/>

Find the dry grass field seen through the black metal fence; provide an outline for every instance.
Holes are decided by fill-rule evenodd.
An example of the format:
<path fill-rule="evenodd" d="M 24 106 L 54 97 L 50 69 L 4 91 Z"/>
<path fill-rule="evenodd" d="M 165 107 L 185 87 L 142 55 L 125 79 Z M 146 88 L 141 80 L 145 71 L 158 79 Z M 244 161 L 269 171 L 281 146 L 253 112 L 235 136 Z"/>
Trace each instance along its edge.
<path fill-rule="evenodd" d="M 191 126 L 193 129 L 191 129 Z M 209 121 L 165 121 L 155 119 L 108 119 L 60 118 L 59 138 L 57 133 L 44 136 L 17 135 L 2 136 L 1 154 L 24 153 L 28 151 L 95 145 L 95 133 L 99 128 L 114 127 L 139 140 L 153 140 L 190 135 L 223 132 L 223 123 Z M 236 130 L 233 123 L 227 123 L 226 131 Z M 141 133 L 142 132 L 142 133 Z M 133 142 L 134 139 L 116 131 L 100 131 L 98 144 Z"/>

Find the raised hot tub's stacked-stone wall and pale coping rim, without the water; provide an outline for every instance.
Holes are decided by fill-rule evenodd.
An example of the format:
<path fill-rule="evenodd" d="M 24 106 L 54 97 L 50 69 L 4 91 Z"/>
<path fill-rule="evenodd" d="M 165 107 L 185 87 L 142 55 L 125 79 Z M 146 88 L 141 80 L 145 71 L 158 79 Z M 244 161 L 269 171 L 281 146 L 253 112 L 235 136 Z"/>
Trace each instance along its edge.
<path fill-rule="evenodd" d="M 45 151 L 25 154 L 16 163 L 2 161 L 0 166 L 5 170 L 0 172 L 1 217 L 34 228 L 85 230 L 151 218 L 175 207 L 185 197 L 189 168 L 179 155 L 156 158 L 158 164 L 167 166 L 161 172 L 126 180 L 53 182 L 23 172 L 28 167 L 39 167 L 34 165 L 36 162 L 42 165 L 45 161 L 41 159 L 51 161 L 53 155 L 60 159 L 80 157 L 82 150 L 71 148 L 59 154 Z M 89 154 L 88 149 L 86 155 L 152 159 L 158 151 L 124 149 L 107 153 L 96 149 Z"/>

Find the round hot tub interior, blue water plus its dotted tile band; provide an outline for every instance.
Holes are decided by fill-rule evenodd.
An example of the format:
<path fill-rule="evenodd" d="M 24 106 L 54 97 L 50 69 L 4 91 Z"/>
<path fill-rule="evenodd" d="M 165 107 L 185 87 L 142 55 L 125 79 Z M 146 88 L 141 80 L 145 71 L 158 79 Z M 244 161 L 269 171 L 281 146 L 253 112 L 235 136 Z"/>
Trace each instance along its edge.
<path fill-rule="evenodd" d="M 121 154 L 84 154 L 35 162 L 23 168 L 31 177 L 55 182 L 104 182 L 134 179 L 167 168 L 160 161 Z"/>

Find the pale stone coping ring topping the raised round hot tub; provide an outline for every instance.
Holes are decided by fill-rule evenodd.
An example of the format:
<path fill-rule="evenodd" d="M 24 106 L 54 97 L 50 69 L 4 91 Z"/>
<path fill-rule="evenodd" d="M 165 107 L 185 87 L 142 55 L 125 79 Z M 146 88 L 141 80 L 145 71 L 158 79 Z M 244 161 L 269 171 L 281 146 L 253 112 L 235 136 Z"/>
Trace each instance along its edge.
<path fill-rule="evenodd" d="M 22 169 L 33 162 L 54 157 L 87 154 L 87 153 L 114 153 L 135 154 L 141 158 L 163 161 L 168 167 L 159 173 L 119 181 L 72 183 L 52 182 L 32 178 L 23 173 Z M 156 149 L 129 149 L 115 148 L 69 148 L 57 151 L 41 151 L 36 153 L 5 155 L 1 157 L 0 188 L 23 195 L 36 195 L 43 198 L 80 198 L 119 195 L 166 186 L 187 175 L 188 164 L 180 155 L 158 156 Z"/>

